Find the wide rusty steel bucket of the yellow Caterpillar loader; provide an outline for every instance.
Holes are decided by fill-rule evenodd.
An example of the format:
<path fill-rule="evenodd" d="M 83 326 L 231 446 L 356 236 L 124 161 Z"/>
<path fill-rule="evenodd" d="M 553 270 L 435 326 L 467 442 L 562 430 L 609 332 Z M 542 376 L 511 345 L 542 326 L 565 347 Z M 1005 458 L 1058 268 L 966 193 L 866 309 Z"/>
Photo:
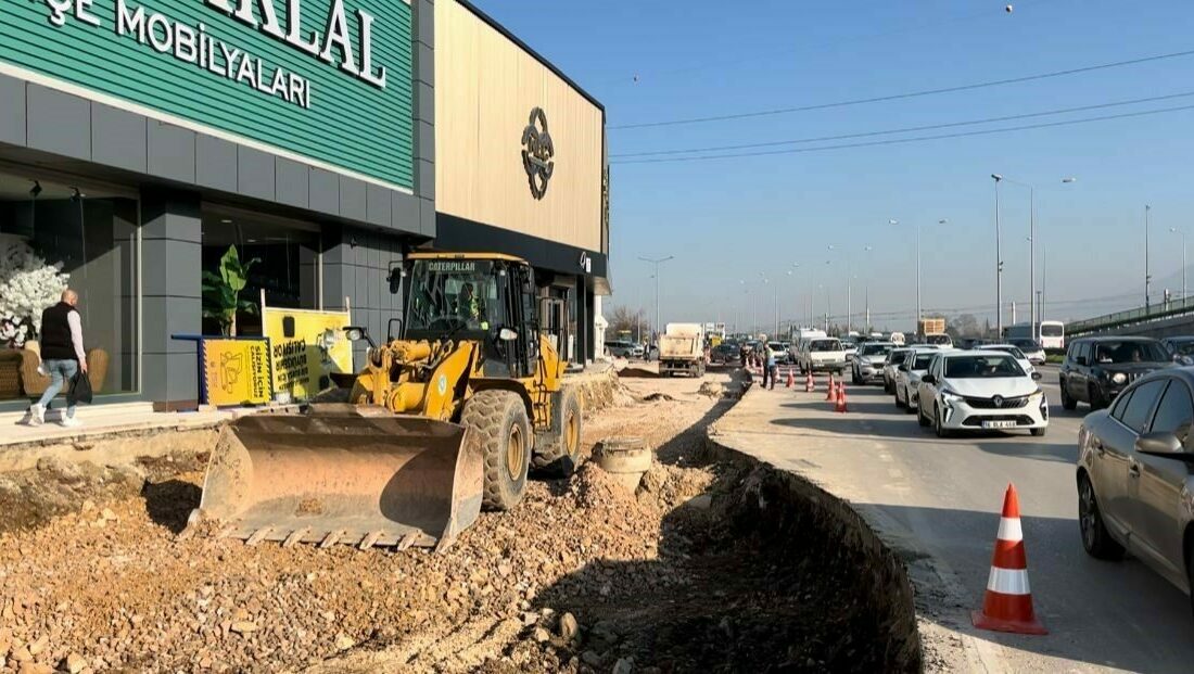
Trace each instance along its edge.
<path fill-rule="evenodd" d="M 213 451 L 191 524 L 250 544 L 443 549 L 476 520 L 482 470 L 445 421 L 346 404 L 245 416 Z"/>

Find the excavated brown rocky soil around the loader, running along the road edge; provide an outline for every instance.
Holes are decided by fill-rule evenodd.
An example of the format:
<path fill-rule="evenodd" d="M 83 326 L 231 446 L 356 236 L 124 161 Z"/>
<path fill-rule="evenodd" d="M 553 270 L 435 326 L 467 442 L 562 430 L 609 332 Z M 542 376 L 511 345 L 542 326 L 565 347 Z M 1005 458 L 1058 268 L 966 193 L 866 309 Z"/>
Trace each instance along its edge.
<path fill-rule="evenodd" d="M 96 469 L 122 487 L 0 532 L 0 672 L 884 669 L 832 542 L 765 507 L 763 469 L 706 456 L 736 390 L 623 379 L 584 438 L 656 447 L 638 491 L 586 464 L 439 555 L 178 540 L 198 466 Z"/>

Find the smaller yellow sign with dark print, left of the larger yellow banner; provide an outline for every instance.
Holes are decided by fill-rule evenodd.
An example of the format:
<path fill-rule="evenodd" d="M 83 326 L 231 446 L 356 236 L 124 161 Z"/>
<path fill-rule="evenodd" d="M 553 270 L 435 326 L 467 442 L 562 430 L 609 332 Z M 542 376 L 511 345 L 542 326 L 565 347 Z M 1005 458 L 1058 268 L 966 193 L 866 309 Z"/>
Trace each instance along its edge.
<path fill-rule="evenodd" d="M 270 402 L 270 348 L 263 339 L 199 341 L 205 402 L 215 406 Z"/>

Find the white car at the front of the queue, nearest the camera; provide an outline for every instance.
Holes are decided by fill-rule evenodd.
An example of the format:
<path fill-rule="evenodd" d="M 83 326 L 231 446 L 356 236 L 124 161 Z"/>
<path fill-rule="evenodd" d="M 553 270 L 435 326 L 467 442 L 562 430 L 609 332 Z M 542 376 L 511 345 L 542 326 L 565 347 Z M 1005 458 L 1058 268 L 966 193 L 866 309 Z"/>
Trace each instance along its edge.
<path fill-rule="evenodd" d="M 1048 400 L 1039 372 L 996 350 L 942 351 L 921 377 L 917 419 L 938 438 L 958 431 L 1027 429 L 1044 435 Z"/>

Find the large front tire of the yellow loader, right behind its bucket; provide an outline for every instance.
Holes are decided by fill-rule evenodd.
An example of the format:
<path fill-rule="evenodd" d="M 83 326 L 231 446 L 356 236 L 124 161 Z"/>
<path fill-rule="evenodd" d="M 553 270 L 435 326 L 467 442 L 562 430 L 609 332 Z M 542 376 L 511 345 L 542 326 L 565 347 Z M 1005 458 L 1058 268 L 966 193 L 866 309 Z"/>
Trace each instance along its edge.
<path fill-rule="evenodd" d="M 460 422 L 478 438 L 485 459 L 481 507 L 509 511 L 527 491 L 531 434 L 527 407 L 511 391 L 478 391 L 461 413 Z"/>

